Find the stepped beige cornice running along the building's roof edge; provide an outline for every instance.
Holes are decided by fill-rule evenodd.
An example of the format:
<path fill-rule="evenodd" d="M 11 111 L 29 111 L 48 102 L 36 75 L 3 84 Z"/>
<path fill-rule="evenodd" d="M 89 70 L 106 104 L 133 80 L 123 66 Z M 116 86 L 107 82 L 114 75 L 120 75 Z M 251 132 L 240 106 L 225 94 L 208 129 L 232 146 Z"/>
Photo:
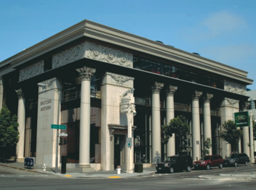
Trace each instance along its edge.
<path fill-rule="evenodd" d="M 187 51 L 160 44 L 156 41 L 151 41 L 147 38 L 136 36 L 131 33 L 126 33 L 115 28 L 111 28 L 105 25 L 100 25 L 96 22 L 89 20 L 83 20 L 76 25 L 71 26 L 63 30 L 54 36 L 41 41 L 39 44 L 31 46 L 24 51 L 4 60 L 0 63 L 0 67 L 11 64 L 13 67 L 21 65 L 24 62 L 28 62 L 33 58 L 45 54 L 53 49 L 57 49 L 60 46 L 70 43 L 76 39 L 84 36 L 95 38 L 100 41 L 105 41 L 118 46 L 123 46 L 128 49 L 144 52 L 146 54 L 152 54 L 156 57 L 162 57 L 175 62 L 180 62 L 184 65 L 196 67 L 201 70 L 207 70 L 211 73 L 223 75 L 228 78 L 240 80 L 247 84 L 252 84 L 251 79 L 247 78 L 247 72 L 239 70 L 235 67 L 224 65 L 220 62 L 215 62 L 205 57 L 199 57 L 198 55 L 191 54 Z"/>

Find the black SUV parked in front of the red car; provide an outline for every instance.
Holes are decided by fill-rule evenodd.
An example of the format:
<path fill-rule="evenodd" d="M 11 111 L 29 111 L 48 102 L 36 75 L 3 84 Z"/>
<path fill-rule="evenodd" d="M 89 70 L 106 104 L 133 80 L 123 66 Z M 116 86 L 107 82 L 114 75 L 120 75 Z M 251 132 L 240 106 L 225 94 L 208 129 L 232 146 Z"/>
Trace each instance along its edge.
<path fill-rule="evenodd" d="M 193 168 L 193 160 L 192 157 L 188 155 L 167 157 L 164 162 L 156 165 L 156 170 L 158 173 L 161 171 L 174 173 L 175 171 L 182 170 L 190 172 L 191 168 Z"/>

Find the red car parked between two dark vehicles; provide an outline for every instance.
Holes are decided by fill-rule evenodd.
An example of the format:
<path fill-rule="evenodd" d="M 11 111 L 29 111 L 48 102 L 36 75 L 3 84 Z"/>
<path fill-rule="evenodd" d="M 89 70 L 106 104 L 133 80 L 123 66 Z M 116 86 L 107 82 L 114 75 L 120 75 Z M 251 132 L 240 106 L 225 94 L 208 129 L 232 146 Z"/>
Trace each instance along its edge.
<path fill-rule="evenodd" d="M 199 168 L 206 168 L 209 170 L 211 167 L 219 167 L 220 169 L 223 168 L 223 157 L 220 155 L 207 155 L 205 157 L 202 157 L 201 160 L 193 162 L 193 167 L 195 169 Z"/>

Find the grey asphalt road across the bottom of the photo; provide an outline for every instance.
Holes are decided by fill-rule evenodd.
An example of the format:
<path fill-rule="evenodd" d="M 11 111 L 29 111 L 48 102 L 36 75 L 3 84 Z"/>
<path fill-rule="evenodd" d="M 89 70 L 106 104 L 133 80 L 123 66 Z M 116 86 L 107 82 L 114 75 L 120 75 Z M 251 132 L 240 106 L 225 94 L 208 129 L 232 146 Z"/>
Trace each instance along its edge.
<path fill-rule="evenodd" d="M 239 167 L 239 172 L 249 167 Z M 235 173 L 235 168 L 159 173 L 140 178 L 63 178 L 0 166 L 0 189 L 255 189 L 256 181 L 209 181 L 199 175 Z M 256 168 L 255 168 L 256 174 Z"/>

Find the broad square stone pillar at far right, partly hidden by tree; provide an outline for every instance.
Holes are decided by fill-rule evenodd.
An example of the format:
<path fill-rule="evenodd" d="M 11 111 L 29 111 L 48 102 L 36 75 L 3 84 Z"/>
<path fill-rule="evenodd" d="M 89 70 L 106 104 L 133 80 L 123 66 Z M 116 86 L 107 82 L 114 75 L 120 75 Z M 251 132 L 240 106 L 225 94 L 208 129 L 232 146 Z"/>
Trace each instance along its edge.
<path fill-rule="evenodd" d="M 223 124 L 225 121 L 233 120 L 233 113 L 239 112 L 239 101 L 236 99 L 224 98 L 220 105 L 220 121 L 221 121 L 221 131 L 223 132 Z M 226 141 L 221 141 L 221 155 L 223 158 L 231 154 L 231 144 Z"/>

